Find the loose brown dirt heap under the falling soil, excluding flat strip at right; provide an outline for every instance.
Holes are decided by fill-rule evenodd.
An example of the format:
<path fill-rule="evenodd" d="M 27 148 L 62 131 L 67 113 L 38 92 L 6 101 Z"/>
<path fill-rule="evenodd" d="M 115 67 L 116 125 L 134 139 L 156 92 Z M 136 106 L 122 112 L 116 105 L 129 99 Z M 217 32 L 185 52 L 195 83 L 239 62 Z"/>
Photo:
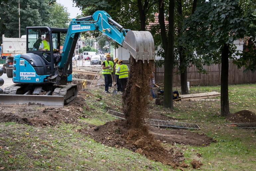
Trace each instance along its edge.
<path fill-rule="evenodd" d="M 143 129 L 143 131 L 141 131 Z M 183 154 L 174 149 L 164 149 L 159 141 L 155 141 L 153 134 L 144 134 L 146 126 L 140 129 L 127 129 L 126 120 L 119 119 L 104 125 L 85 130 L 95 141 L 116 148 L 127 148 L 145 155 L 147 158 L 177 167 L 183 161 Z"/>

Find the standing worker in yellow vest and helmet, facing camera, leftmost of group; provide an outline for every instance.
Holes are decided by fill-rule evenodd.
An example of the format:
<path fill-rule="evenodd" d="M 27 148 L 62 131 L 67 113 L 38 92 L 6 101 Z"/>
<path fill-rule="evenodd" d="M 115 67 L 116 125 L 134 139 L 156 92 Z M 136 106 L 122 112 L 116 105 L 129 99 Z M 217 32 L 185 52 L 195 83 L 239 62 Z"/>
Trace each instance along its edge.
<path fill-rule="evenodd" d="M 104 79 L 105 79 L 105 93 L 109 93 L 108 91 L 108 87 L 109 87 L 109 84 L 110 84 L 110 81 L 111 81 L 111 63 L 109 62 L 111 59 L 110 55 L 107 55 L 106 56 L 106 60 L 104 60 L 102 62 L 102 72 L 101 74 L 103 74 L 104 76 Z M 113 63 L 113 62 L 112 62 Z"/>

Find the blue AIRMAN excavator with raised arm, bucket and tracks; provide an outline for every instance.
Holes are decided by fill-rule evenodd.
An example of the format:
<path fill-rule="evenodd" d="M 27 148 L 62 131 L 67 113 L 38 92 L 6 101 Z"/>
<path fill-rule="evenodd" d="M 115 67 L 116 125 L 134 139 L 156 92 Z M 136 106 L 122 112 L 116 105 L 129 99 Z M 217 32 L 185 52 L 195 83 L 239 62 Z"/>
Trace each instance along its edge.
<path fill-rule="evenodd" d="M 27 50 L 13 61 L 12 86 L 0 95 L 0 104 L 67 104 L 77 96 L 72 81 L 72 57 L 80 33 L 98 30 L 128 49 L 136 60 L 155 60 L 154 40 L 150 32 L 124 29 L 105 11 L 75 18 L 66 28 L 27 27 Z M 50 49 L 40 50 L 49 35 Z M 62 52 L 58 52 L 63 46 Z M 57 51 L 56 51 L 57 49 Z M 1 97 L 3 96 L 3 97 Z"/>

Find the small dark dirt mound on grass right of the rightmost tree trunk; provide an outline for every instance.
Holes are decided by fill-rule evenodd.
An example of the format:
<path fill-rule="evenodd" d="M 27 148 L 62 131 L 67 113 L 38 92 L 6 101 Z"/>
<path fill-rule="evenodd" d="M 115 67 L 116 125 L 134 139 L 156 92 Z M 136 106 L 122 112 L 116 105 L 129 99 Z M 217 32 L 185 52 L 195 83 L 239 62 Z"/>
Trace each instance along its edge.
<path fill-rule="evenodd" d="M 249 110 L 242 110 L 226 117 L 232 123 L 256 123 L 256 115 Z"/>

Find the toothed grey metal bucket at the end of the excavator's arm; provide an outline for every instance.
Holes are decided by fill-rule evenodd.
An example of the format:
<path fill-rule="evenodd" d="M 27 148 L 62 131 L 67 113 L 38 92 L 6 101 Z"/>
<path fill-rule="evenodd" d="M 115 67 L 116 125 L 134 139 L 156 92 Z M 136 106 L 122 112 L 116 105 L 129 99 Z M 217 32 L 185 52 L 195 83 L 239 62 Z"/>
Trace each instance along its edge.
<path fill-rule="evenodd" d="M 136 60 L 155 60 L 155 44 L 153 36 L 148 31 L 128 31 L 122 46 L 130 51 Z"/>

